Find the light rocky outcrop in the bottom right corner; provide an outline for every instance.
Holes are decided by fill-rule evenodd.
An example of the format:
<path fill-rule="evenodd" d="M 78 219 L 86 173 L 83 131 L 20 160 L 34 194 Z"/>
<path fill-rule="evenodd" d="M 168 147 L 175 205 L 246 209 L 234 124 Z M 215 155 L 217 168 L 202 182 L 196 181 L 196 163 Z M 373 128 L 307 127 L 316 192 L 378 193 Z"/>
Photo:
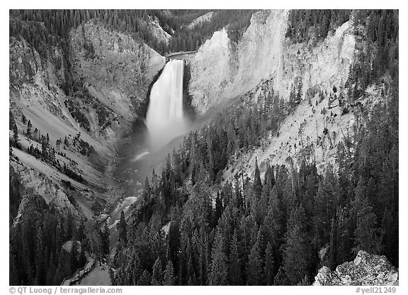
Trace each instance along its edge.
<path fill-rule="evenodd" d="M 319 269 L 314 286 L 390 286 L 398 285 L 398 269 L 385 256 L 370 255 L 360 250 L 352 262 L 344 262 L 331 272 Z"/>

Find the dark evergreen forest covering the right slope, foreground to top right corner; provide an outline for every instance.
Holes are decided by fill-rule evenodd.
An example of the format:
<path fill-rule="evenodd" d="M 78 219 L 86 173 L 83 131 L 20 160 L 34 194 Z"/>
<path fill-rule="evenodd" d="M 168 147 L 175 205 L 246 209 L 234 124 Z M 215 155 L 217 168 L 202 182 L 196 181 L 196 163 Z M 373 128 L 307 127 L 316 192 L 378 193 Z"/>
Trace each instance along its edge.
<path fill-rule="evenodd" d="M 113 283 L 307 285 L 319 267 L 335 269 L 358 250 L 385 255 L 398 266 L 395 13 L 358 11 L 353 20 L 358 33 L 373 30 L 370 20 L 380 19 L 378 35 L 363 43 L 372 48 L 371 62 L 362 55 L 355 65 L 370 69 L 367 80 L 361 82 L 353 67 L 346 94 L 339 96 L 347 101 L 343 113 L 353 109 L 356 123 L 337 147 L 336 167 L 318 173 L 310 154 L 297 165 L 288 156 L 286 165 L 268 165 L 263 178 L 256 164 L 252 179 L 239 171 L 234 182 L 222 183 L 229 161 L 239 161 L 268 132 L 278 132 L 280 119 L 299 101 L 293 87 L 287 103 L 273 94 L 251 107 L 224 110 L 210 126 L 188 135 L 161 173 L 146 179 L 142 206 L 119 226 Z M 361 28 L 362 20 L 367 22 Z M 375 67 L 375 56 L 385 61 L 381 67 Z M 382 102 L 368 111 L 358 100 L 370 84 L 385 84 L 385 90 Z M 322 249 L 328 251 L 323 260 Z"/>

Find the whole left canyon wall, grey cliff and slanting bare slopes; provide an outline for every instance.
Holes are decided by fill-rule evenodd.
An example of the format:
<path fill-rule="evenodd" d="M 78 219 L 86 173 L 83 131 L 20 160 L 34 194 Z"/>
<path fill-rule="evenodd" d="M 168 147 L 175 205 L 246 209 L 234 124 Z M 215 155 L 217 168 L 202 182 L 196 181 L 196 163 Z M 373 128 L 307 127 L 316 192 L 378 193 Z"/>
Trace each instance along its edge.
<path fill-rule="evenodd" d="M 116 143 L 130 129 L 165 58 L 144 43 L 96 23 L 72 30 L 66 52 L 56 46 L 40 55 L 23 38 L 11 37 L 11 113 L 23 150 L 12 149 L 16 158 L 10 165 L 22 175 L 23 186 L 47 204 L 91 217 L 103 204 L 101 199 L 108 199 L 101 193 L 108 186 L 106 168 Z M 70 65 L 69 75 L 66 65 Z M 73 89 L 67 91 L 69 87 Z M 28 121 L 30 135 L 26 134 Z M 45 135 L 48 150 L 55 151 L 54 164 L 28 154 L 31 145 L 42 150 Z M 63 167 L 84 180 L 72 179 L 62 172 Z"/>

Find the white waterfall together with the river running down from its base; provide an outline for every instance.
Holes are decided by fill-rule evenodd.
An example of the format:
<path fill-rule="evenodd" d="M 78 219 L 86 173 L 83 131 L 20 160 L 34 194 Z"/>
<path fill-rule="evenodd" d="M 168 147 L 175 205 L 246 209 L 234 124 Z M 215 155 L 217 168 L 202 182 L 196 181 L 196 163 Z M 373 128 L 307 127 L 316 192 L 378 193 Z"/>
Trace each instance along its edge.
<path fill-rule="evenodd" d="M 183 135 L 190 129 L 183 111 L 184 60 L 169 60 L 159 79 L 153 84 L 147 108 L 145 134 L 137 130 L 132 140 L 122 147 L 123 155 L 114 173 L 123 189 L 123 198 L 111 210 L 111 227 L 124 211 L 130 216 L 152 170 L 161 167 L 166 155 L 179 147 Z M 142 143 L 140 142 L 142 141 Z M 137 143 L 137 144 L 135 144 Z"/>

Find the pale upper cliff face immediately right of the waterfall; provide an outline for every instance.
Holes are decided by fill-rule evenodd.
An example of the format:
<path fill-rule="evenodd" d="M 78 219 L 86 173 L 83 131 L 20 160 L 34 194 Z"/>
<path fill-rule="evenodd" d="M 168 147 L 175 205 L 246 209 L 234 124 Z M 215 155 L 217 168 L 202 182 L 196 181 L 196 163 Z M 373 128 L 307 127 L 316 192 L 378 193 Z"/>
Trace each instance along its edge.
<path fill-rule="evenodd" d="M 262 79 L 273 79 L 273 88 L 286 99 L 291 85 L 300 79 L 303 96 L 310 88 L 329 90 L 344 84 L 356 43 L 351 23 L 344 23 L 317 45 L 291 44 L 285 38 L 288 13 L 256 12 L 238 45 L 232 46 L 222 30 L 200 47 L 200 54 L 191 60 L 189 85 L 200 113 L 246 93 Z"/>

